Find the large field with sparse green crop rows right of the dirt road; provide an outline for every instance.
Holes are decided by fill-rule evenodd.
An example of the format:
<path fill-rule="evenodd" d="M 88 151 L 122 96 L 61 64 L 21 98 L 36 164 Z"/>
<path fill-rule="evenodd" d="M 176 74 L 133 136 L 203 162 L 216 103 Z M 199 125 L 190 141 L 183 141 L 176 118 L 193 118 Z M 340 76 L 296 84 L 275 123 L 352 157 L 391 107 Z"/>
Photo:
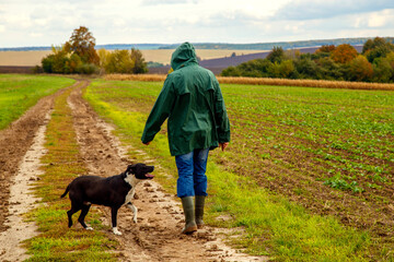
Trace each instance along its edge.
<path fill-rule="evenodd" d="M 140 142 L 161 86 L 97 80 L 85 97 L 124 143 L 174 175 L 159 177 L 174 192 L 165 127 L 150 146 Z M 393 92 L 231 84 L 222 92 L 232 141 L 210 154 L 209 224 L 241 228 L 234 245 L 278 261 L 394 259 Z"/>

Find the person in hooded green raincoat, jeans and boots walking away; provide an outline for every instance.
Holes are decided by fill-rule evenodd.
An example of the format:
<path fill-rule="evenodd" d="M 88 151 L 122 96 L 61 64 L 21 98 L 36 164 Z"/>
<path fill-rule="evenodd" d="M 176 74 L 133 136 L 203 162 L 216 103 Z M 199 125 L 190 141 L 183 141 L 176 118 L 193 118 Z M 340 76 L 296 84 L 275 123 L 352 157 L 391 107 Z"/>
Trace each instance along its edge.
<path fill-rule="evenodd" d="M 176 48 L 171 67 L 174 72 L 164 82 L 141 141 L 148 145 L 169 118 L 170 152 L 175 156 L 177 196 L 186 221 L 182 233 L 192 234 L 204 226 L 209 150 L 228 146 L 230 122 L 219 82 L 211 71 L 198 66 L 193 45 L 184 43 Z"/>

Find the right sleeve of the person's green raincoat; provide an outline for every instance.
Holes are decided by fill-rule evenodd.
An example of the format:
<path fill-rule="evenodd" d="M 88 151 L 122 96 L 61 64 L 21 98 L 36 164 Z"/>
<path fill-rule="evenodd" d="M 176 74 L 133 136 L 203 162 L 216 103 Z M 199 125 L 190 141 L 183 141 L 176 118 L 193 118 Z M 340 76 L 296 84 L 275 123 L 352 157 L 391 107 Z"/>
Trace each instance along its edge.
<path fill-rule="evenodd" d="M 230 121 L 218 81 L 215 81 L 215 120 L 219 143 L 230 142 Z"/>

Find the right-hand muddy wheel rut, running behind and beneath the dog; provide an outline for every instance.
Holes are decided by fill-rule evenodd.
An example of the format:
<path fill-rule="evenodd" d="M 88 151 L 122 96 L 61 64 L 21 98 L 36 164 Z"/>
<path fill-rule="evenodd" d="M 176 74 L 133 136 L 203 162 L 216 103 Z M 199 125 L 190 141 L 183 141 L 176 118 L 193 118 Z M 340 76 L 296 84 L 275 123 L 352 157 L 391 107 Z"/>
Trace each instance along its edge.
<path fill-rule="evenodd" d="M 77 140 L 90 175 L 114 176 L 124 171 L 130 160 L 125 156 L 112 128 L 101 120 L 82 98 L 82 88 L 76 87 L 68 98 L 72 109 Z M 141 159 L 155 164 L 141 152 Z M 118 228 L 123 236 L 108 236 L 120 242 L 120 260 L 124 261 L 267 261 L 264 257 L 248 257 L 227 247 L 219 237 L 220 230 L 207 227 L 192 236 L 181 235 L 183 212 L 179 204 L 166 194 L 154 180 L 137 184 L 138 224 L 132 223 L 132 212 L 121 207 Z M 93 206 L 103 214 L 105 225 L 111 224 L 108 207 Z M 89 217 L 88 217 L 89 221 Z"/>

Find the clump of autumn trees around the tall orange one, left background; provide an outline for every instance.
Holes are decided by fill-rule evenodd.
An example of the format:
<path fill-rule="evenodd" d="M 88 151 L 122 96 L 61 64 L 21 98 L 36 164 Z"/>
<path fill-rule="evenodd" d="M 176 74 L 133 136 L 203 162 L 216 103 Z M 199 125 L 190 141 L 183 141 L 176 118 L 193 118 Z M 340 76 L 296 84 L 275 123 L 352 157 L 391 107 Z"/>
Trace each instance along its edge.
<path fill-rule="evenodd" d="M 146 73 L 147 62 L 142 52 L 131 50 L 108 51 L 95 49 L 95 38 L 89 28 L 80 26 L 74 29 L 70 39 L 42 60 L 42 68 L 36 71 L 61 74 L 93 73 Z"/>

